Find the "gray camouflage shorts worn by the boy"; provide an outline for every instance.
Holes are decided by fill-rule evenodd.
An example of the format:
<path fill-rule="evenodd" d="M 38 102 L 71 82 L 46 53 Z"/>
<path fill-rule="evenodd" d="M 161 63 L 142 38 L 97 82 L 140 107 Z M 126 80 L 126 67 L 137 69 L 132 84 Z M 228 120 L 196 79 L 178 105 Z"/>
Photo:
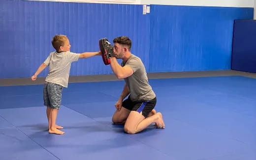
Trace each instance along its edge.
<path fill-rule="evenodd" d="M 43 87 L 44 106 L 51 107 L 53 109 L 60 109 L 61 101 L 62 101 L 62 90 L 63 90 L 62 85 L 59 85 L 56 83 L 44 82 L 44 87 Z"/>

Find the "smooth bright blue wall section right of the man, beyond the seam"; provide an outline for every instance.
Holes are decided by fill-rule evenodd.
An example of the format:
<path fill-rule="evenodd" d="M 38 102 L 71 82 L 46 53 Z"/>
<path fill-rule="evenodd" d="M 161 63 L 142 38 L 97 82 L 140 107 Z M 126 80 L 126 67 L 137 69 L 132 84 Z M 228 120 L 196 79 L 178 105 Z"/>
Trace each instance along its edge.
<path fill-rule="evenodd" d="M 149 72 L 230 69 L 236 19 L 253 8 L 151 5 Z"/>

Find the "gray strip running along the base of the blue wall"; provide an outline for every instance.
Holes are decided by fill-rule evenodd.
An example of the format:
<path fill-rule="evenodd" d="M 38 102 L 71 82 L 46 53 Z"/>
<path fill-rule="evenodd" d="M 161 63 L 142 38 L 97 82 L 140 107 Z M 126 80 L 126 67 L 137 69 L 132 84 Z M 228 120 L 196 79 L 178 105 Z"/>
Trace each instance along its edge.
<path fill-rule="evenodd" d="M 217 76 L 244 76 L 256 78 L 256 73 L 248 73 L 234 70 L 218 71 L 190 71 L 190 72 L 158 72 L 148 73 L 149 79 L 171 79 L 171 78 L 195 78 L 195 77 L 217 77 Z M 39 77 L 32 81 L 31 78 L 0 79 L 0 86 L 12 85 L 35 85 L 43 84 L 45 77 Z M 90 75 L 90 76 L 70 76 L 69 83 L 115 81 L 118 80 L 114 74 L 110 75 Z"/>

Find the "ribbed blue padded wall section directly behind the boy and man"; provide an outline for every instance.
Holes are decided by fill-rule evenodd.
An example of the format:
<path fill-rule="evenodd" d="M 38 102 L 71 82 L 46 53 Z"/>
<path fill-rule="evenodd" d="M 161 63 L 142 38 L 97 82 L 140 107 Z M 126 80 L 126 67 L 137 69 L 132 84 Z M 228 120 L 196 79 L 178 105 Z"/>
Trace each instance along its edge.
<path fill-rule="evenodd" d="M 149 68 L 150 15 L 142 5 L 0 0 L 0 79 L 31 77 L 54 51 L 55 34 L 69 37 L 71 52 L 96 52 L 98 40 L 126 35 L 131 52 Z M 47 75 L 45 69 L 39 76 Z M 100 56 L 79 59 L 70 75 L 111 74 Z"/>

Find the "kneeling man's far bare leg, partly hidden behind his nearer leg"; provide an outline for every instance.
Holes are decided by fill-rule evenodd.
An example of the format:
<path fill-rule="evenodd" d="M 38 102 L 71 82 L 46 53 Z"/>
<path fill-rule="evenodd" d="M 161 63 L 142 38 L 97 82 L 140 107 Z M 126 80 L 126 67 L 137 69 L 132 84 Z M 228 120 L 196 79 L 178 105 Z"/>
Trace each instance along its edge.
<path fill-rule="evenodd" d="M 125 107 L 121 107 L 120 110 L 116 110 L 113 117 L 112 122 L 116 125 L 118 124 L 125 124 L 126 119 L 130 113 L 130 110 L 128 110 Z"/>

